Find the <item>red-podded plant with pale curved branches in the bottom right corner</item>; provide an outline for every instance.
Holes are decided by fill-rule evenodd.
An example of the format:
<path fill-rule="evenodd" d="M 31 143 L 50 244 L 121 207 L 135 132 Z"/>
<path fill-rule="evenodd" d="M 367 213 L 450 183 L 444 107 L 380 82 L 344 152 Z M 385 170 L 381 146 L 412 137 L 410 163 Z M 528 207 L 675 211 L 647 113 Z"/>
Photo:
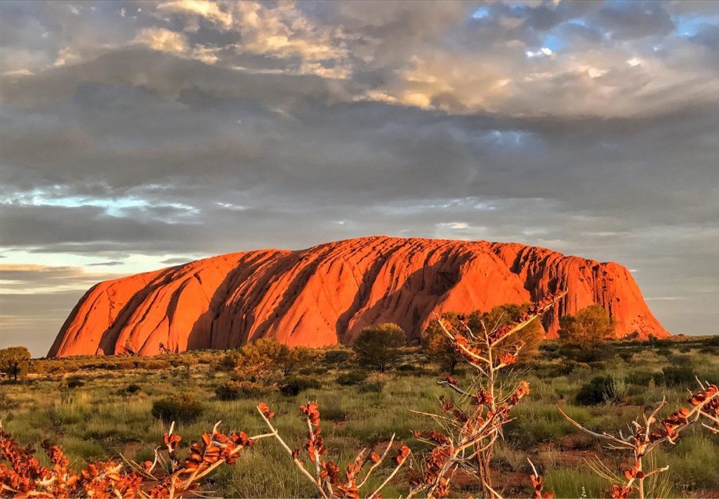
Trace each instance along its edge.
<path fill-rule="evenodd" d="M 592 469 L 612 484 L 609 491 L 611 498 L 628 498 L 634 492 L 639 498 L 644 498 L 645 487 L 644 480 L 657 473 L 669 470 L 669 466 L 657 467 L 652 470 L 645 469 L 645 457 L 654 449 L 662 444 L 674 445 L 682 434 L 692 424 L 700 421 L 700 418 L 708 418 L 713 425 L 719 423 L 719 389 L 716 385 L 703 385 L 700 383 L 700 390 L 692 393 L 688 402 L 691 408 L 682 407 L 679 411 L 672 413 L 666 418 L 659 419 L 659 411 L 667 403 L 666 400 L 656 404 L 654 411 L 649 416 L 642 414 L 642 421 L 634 420 L 631 422 L 631 433 L 624 435 L 619 431 L 618 435 L 608 434 L 606 432 L 597 433 L 586 429 L 574 419 L 567 416 L 562 408 L 562 413 L 567 421 L 577 426 L 586 434 L 597 437 L 608 442 L 607 448 L 613 450 L 628 450 L 633 454 L 633 464 L 628 469 L 623 470 L 623 475 L 616 476 L 610 470 L 610 467 L 601 461 L 591 463 Z M 715 426 L 703 424 L 712 431 L 717 431 Z"/>

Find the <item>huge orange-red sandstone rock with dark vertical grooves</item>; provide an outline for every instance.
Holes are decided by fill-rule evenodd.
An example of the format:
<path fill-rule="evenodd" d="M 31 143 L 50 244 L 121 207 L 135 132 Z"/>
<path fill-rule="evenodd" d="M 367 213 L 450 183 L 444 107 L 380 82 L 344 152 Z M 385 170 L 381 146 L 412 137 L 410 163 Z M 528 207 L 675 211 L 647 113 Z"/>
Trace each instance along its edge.
<path fill-rule="evenodd" d="M 557 289 L 544 317 L 599 303 L 616 336 L 666 337 L 626 268 L 514 243 L 366 237 L 308 250 L 259 250 L 99 283 L 49 356 L 234 348 L 259 337 L 309 347 L 351 343 L 364 326 L 399 324 L 417 341 L 431 313 L 489 310 Z"/>

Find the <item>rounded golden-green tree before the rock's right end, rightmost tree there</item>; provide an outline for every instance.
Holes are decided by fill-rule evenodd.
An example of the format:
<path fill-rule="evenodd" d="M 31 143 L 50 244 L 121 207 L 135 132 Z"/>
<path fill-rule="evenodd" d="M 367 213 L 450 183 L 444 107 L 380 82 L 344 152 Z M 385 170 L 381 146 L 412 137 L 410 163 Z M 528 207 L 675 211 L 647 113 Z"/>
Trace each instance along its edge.
<path fill-rule="evenodd" d="M 601 351 L 612 337 L 614 323 L 600 305 L 590 305 L 574 316 L 559 319 L 559 338 L 565 346 L 578 349 L 588 362 L 602 357 Z"/>

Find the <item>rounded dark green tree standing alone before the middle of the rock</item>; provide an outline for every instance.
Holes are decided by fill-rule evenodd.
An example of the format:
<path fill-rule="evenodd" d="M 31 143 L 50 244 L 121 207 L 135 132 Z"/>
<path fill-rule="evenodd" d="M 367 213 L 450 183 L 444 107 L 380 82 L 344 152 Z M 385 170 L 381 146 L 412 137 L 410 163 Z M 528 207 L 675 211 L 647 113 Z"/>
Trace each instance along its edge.
<path fill-rule="evenodd" d="M 407 337 L 402 328 L 397 324 L 386 323 L 368 326 L 359 331 L 352 348 L 357 353 L 360 365 L 368 365 L 385 372 L 397 362 L 400 347 L 404 347 L 406 343 Z"/>

